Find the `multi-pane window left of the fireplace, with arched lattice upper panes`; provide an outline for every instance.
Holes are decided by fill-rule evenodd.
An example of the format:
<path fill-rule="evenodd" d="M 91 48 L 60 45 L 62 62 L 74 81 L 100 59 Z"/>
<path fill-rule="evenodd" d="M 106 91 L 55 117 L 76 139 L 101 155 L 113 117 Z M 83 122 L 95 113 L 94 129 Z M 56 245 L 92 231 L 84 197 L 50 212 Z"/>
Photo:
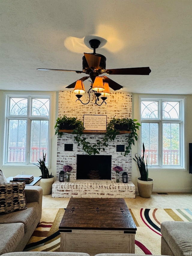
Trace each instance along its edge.
<path fill-rule="evenodd" d="M 33 164 L 49 153 L 49 96 L 7 95 L 4 164 Z"/>

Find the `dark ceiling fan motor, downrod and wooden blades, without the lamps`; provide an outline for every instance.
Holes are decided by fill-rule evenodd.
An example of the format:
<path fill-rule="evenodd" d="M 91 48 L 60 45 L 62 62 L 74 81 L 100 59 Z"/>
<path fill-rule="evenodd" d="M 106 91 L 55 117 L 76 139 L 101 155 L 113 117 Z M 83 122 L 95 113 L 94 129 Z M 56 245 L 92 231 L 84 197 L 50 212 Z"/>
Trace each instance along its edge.
<path fill-rule="evenodd" d="M 149 67 L 133 67 L 133 68 L 117 68 L 117 69 L 105 69 L 106 68 L 106 57 L 104 55 L 95 53 L 95 49 L 99 47 L 100 41 L 98 39 L 91 39 L 89 44 L 93 48 L 93 53 L 84 53 L 82 57 L 82 71 L 77 70 L 65 70 L 65 69 L 45 69 L 38 68 L 38 70 L 53 70 L 53 71 L 70 71 L 76 72 L 78 74 L 85 73 L 89 76 L 83 76 L 79 80 L 85 81 L 88 78 L 91 78 L 92 83 L 95 81 L 95 77 L 103 73 L 108 75 L 149 75 L 151 72 Z M 114 91 L 121 89 L 123 86 L 111 80 L 107 76 L 102 76 L 104 82 L 109 84 L 109 87 Z M 74 88 L 76 81 L 66 88 Z"/>

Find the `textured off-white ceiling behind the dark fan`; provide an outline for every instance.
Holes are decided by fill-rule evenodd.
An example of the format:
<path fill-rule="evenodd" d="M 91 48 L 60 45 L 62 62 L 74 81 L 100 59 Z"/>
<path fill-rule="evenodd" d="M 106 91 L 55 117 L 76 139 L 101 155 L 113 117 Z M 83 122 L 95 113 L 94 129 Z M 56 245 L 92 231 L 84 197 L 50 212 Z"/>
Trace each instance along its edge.
<path fill-rule="evenodd" d="M 191 0 L 0 0 L 0 9 L 0 89 L 65 90 L 85 74 L 36 69 L 82 70 L 97 36 L 107 69 L 152 70 L 107 75 L 123 91 L 192 93 Z"/>

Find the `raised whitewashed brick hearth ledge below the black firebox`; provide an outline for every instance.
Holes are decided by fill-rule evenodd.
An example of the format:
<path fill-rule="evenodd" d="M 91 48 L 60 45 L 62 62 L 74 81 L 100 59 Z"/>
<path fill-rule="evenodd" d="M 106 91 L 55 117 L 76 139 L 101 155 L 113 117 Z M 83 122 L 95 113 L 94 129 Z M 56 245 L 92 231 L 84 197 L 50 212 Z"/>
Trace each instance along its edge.
<path fill-rule="evenodd" d="M 135 198 L 135 185 L 110 180 L 56 181 L 52 186 L 52 197 Z"/>

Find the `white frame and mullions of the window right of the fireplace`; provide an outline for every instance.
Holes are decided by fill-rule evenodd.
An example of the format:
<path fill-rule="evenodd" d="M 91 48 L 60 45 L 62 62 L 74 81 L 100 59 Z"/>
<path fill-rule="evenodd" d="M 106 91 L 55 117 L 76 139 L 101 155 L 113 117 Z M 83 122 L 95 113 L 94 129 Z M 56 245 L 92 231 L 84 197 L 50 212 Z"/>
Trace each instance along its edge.
<path fill-rule="evenodd" d="M 186 97 L 185 96 L 158 96 L 158 95 L 139 95 L 139 115 L 140 123 L 158 123 L 158 165 L 148 165 L 149 169 L 186 169 L 186 143 L 185 143 L 185 112 L 186 112 Z M 141 118 L 141 102 L 142 101 L 158 101 L 158 118 Z M 163 114 L 163 101 L 179 101 L 179 112 L 180 118 L 162 118 Z M 163 165 L 163 123 L 179 123 L 180 124 L 180 141 L 179 141 L 179 150 L 180 150 L 180 164 L 179 165 Z M 139 152 L 141 154 L 142 150 L 142 139 L 141 139 L 142 129 L 139 131 Z"/>

